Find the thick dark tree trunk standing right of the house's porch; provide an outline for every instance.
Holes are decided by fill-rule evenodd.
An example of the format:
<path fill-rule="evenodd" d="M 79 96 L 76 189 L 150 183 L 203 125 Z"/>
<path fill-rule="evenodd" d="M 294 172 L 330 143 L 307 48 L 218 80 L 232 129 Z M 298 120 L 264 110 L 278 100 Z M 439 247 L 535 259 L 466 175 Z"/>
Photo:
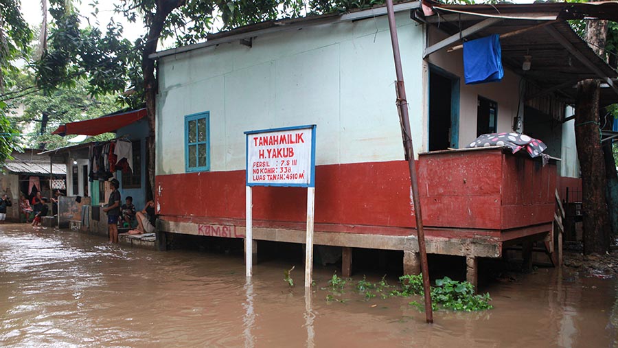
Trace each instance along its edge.
<path fill-rule="evenodd" d="M 605 253 L 609 249 L 609 230 L 605 161 L 599 130 L 599 81 L 577 84 L 575 100 L 575 141 L 582 168 L 582 213 L 584 254 Z"/>

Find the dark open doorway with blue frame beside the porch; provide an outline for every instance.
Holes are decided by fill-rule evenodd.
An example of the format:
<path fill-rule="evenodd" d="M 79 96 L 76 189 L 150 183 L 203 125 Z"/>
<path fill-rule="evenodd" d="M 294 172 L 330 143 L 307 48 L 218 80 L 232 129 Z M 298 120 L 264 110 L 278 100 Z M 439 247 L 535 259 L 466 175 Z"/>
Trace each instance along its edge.
<path fill-rule="evenodd" d="M 429 69 L 429 151 L 457 148 L 459 78 L 439 67 Z"/>

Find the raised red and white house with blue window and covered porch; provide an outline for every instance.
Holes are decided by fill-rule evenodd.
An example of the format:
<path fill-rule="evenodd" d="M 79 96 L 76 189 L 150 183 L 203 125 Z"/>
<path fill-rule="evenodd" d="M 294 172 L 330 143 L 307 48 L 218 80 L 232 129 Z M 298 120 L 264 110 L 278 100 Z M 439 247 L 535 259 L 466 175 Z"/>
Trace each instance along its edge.
<path fill-rule="evenodd" d="M 396 5 L 398 36 L 428 253 L 466 257 L 474 282 L 477 257 L 553 238 L 560 172 L 556 161 L 500 148 L 453 149 L 485 132 L 523 130 L 560 157 L 573 138 L 560 126 L 573 86 L 617 73 L 563 20 L 600 7 L 441 6 L 440 16 L 424 16 L 420 3 Z M 464 37 L 531 27 L 502 41 L 501 82 L 464 84 L 461 50 L 446 52 Z M 243 237 L 244 132 L 315 124 L 315 243 L 347 255 L 352 247 L 402 251 L 404 271 L 418 271 L 385 8 L 260 23 L 151 58 L 159 61 L 160 231 Z M 617 94 L 604 89 L 602 98 Z M 303 189 L 253 188 L 255 240 L 304 242 L 305 214 Z M 216 232 L 224 230 L 233 233 Z"/>

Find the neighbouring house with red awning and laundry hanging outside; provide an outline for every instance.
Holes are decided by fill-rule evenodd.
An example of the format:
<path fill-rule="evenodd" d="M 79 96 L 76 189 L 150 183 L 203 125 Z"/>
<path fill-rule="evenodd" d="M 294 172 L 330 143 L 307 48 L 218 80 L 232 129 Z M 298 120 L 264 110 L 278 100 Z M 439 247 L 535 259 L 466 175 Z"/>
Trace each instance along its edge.
<path fill-rule="evenodd" d="M 49 150 L 45 154 L 52 158 L 54 163 L 62 163 L 66 166 L 67 172 L 67 196 L 87 196 L 90 198 L 93 208 L 90 217 L 95 218 L 95 222 L 89 227 L 100 233 L 107 233 L 106 220 L 104 224 L 97 223 L 103 221 L 100 216 L 104 213 L 98 208 L 107 203 L 110 193 L 107 178 L 93 179 L 91 176 L 93 151 L 98 146 L 116 141 L 130 141 L 133 149 L 133 170 L 113 172 L 113 177 L 120 183 L 119 192 L 122 200 L 127 196 L 133 197 L 133 204 L 137 209 L 143 209 L 148 197 L 148 180 L 146 176 L 146 137 L 148 137 L 148 121 L 146 119 L 146 109 L 142 108 L 134 111 L 123 111 L 104 115 L 96 119 L 86 121 L 71 122 L 62 125 L 54 131 L 58 135 L 100 135 L 107 132 L 114 132 L 116 137 L 110 141 L 93 141 L 81 143 L 74 146 L 67 146 L 56 150 Z M 122 140 L 121 140 L 122 139 Z M 94 211 L 95 210 L 95 211 Z M 62 225 L 62 222 L 60 223 Z"/>

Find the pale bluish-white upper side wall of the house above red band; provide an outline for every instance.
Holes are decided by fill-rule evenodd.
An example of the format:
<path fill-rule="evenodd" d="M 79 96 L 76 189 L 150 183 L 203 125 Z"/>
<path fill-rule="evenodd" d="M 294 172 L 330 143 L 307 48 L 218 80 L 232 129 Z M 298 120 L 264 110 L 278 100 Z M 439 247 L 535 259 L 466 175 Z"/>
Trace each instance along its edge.
<path fill-rule="evenodd" d="M 422 147 L 423 27 L 397 16 L 412 137 Z M 258 36 L 159 61 L 157 174 L 185 172 L 184 116 L 210 112 L 211 171 L 242 170 L 243 132 L 317 124 L 317 164 L 403 159 L 386 16 Z M 488 97 L 490 97 L 488 95 Z"/>

